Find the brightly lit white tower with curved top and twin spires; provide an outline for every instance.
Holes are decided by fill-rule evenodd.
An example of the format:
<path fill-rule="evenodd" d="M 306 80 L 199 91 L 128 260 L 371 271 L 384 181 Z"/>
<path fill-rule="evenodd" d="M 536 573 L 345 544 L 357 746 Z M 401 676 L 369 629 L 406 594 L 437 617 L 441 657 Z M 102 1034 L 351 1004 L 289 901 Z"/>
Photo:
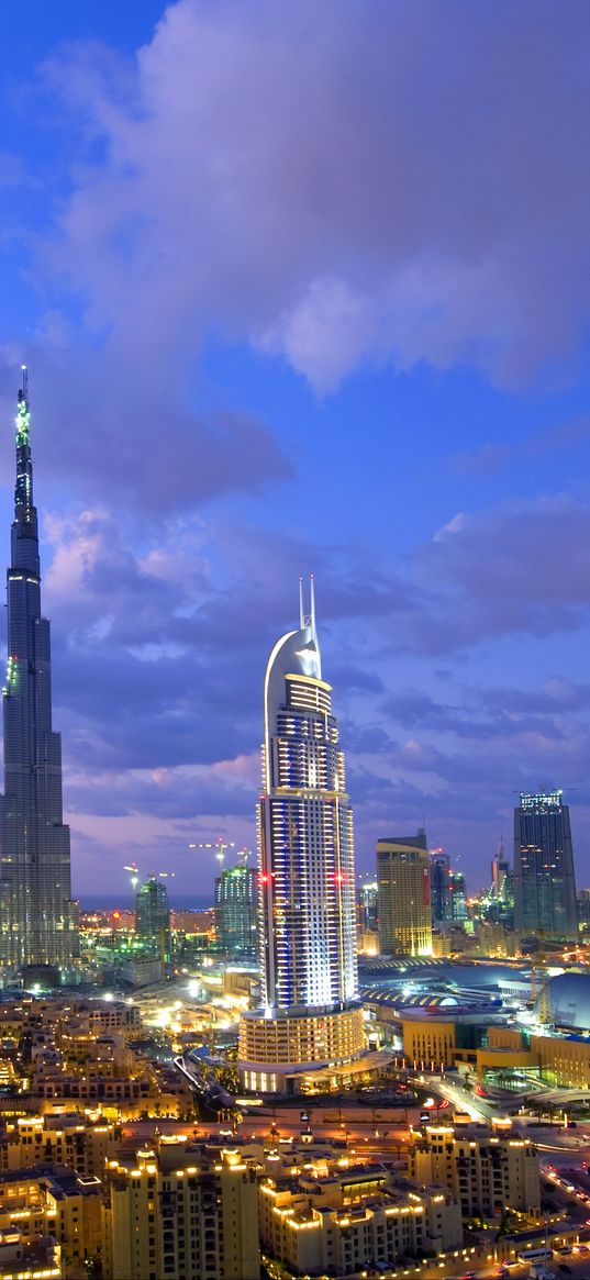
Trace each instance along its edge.
<path fill-rule="evenodd" d="M 329 1085 L 355 1073 L 365 1048 L 352 809 L 330 694 L 311 584 L 311 612 L 303 613 L 299 591 L 299 627 L 275 644 L 264 689 L 262 1007 L 242 1016 L 239 1032 L 242 1083 L 262 1092 L 297 1093 L 320 1079 Z"/>

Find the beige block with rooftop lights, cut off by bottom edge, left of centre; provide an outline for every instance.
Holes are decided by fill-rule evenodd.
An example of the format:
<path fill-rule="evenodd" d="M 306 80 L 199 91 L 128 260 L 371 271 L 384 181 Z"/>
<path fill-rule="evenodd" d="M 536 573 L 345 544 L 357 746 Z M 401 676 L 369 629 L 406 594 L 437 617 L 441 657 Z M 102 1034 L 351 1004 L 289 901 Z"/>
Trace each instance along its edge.
<path fill-rule="evenodd" d="M 259 1280 L 256 1172 L 238 1151 L 161 1138 L 105 1175 L 110 1280 Z"/>

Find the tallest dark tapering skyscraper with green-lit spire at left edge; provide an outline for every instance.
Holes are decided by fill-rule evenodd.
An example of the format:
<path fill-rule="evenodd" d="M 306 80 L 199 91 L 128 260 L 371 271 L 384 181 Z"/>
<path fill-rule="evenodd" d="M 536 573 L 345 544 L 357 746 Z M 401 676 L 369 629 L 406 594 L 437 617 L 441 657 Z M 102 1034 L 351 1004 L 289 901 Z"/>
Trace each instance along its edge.
<path fill-rule="evenodd" d="M 18 393 L 17 486 L 8 570 L 4 796 L 0 810 L 0 961 L 68 966 L 78 952 L 61 739 L 51 727 L 50 626 L 41 617 L 27 372 Z"/>

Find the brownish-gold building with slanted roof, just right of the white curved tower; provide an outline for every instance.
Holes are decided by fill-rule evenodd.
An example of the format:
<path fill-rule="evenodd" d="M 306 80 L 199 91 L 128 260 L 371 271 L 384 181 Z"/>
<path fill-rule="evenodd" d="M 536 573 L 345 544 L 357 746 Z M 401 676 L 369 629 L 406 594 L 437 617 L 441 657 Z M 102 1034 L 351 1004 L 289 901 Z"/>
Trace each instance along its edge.
<path fill-rule="evenodd" d="M 430 955 L 430 854 L 425 832 L 379 840 L 376 859 L 381 955 Z"/>

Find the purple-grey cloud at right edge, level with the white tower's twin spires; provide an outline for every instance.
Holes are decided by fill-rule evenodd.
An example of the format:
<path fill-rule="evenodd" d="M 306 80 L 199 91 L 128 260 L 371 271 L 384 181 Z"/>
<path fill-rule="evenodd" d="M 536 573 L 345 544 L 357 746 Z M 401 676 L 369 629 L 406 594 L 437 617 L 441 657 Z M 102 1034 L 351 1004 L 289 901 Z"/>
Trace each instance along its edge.
<path fill-rule="evenodd" d="M 590 594 L 590 508 L 568 495 L 453 517 L 408 559 L 422 605 L 404 643 L 453 653 L 484 639 L 577 630 Z"/>

